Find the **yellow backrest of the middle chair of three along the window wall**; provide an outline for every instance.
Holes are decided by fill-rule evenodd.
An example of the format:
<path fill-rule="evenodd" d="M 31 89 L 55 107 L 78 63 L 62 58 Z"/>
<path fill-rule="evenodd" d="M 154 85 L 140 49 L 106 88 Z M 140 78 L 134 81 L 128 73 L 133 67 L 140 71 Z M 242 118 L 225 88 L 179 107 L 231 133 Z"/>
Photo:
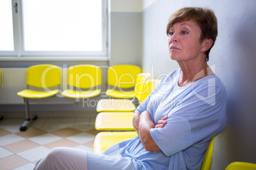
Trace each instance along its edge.
<path fill-rule="evenodd" d="M 68 85 L 82 89 L 101 85 L 101 68 L 96 65 L 74 65 L 69 67 Z"/>

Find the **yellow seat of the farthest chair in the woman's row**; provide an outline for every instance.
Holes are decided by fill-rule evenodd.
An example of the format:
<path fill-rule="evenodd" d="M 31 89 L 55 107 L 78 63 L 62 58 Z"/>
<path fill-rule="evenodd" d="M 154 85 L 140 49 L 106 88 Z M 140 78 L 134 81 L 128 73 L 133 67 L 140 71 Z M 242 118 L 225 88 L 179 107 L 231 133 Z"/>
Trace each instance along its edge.
<path fill-rule="evenodd" d="M 135 109 L 128 99 L 101 99 L 97 103 L 97 112 L 132 112 Z"/>

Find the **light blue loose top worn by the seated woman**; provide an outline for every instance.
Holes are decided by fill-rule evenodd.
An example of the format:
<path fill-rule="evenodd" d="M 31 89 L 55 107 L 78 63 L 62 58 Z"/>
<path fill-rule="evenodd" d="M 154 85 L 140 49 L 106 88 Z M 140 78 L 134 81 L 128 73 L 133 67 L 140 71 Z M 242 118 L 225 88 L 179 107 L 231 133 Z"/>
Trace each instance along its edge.
<path fill-rule="evenodd" d="M 181 88 L 178 86 L 181 74 L 180 69 L 173 70 L 136 109 L 140 113 L 148 110 L 155 124 L 168 115 L 164 128 L 150 129 L 162 151 L 146 151 L 138 136 L 122 141 L 103 152 L 120 161 L 115 169 L 125 169 L 127 164 L 131 164 L 129 168 L 146 170 L 201 169 L 211 138 L 226 126 L 226 91 L 216 75 L 208 75 Z M 96 158 L 93 154 L 89 157 Z"/>

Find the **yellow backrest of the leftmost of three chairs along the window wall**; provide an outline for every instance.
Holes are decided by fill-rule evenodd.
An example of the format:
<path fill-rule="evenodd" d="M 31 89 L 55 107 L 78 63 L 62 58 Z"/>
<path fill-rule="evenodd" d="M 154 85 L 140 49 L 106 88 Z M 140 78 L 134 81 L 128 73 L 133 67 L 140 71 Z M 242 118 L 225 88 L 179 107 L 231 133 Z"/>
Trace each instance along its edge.
<path fill-rule="evenodd" d="M 53 88 L 60 84 L 60 68 L 56 65 L 40 64 L 27 69 L 27 85 L 36 88 Z"/>

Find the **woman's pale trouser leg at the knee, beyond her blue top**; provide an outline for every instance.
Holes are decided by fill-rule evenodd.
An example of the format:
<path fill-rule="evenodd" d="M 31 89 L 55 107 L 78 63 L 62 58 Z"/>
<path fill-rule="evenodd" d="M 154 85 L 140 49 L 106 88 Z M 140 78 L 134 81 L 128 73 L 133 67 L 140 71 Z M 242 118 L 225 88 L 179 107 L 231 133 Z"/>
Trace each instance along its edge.
<path fill-rule="evenodd" d="M 87 152 L 76 148 L 53 148 L 46 157 L 36 163 L 34 169 L 88 170 Z"/>

